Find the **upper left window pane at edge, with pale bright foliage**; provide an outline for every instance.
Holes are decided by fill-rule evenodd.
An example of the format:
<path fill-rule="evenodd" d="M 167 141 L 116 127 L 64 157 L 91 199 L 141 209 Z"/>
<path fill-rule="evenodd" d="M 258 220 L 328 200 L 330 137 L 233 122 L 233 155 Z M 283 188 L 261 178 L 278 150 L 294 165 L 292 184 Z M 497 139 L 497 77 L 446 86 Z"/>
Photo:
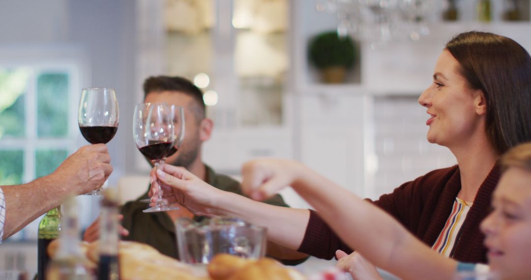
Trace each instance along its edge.
<path fill-rule="evenodd" d="M 0 139 L 24 137 L 24 95 L 29 76 L 28 69 L 0 68 Z"/>

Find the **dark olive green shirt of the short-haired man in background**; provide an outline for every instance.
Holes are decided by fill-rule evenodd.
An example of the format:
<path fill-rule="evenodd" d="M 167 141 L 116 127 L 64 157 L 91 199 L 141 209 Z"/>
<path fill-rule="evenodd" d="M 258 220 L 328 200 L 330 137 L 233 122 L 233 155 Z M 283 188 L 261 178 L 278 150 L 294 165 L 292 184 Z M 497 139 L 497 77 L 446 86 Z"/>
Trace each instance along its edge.
<path fill-rule="evenodd" d="M 216 174 L 208 166 L 206 168 L 207 178 L 205 181 L 209 185 L 242 195 L 238 181 L 225 175 Z M 121 213 L 124 215 L 122 224 L 129 231 L 129 236 L 123 237 L 123 240 L 149 244 L 164 255 L 178 259 L 175 225 L 172 219 L 165 212 L 143 213 L 142 210 L 149 207 L 148 203 L 139 202 L 143 198 L 148 198 L 148 192 L 135 201 L 127 202 L 122 206 Z M 264 203 L 289 207 L 280 195 L 265 200 Z M 194 216 L 194 218 L 196 217 Z"/>

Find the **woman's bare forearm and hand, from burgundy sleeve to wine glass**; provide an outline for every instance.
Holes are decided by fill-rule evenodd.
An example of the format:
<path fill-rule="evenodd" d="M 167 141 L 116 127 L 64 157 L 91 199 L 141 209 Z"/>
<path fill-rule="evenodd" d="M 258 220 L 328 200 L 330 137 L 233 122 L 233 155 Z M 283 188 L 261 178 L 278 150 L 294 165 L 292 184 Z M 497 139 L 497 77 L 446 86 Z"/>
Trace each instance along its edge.
<path fill-rule="evenodd" d="M 222 191 L 186 169 L 168 164 L 162 165 L 157 173 L 155 170 L 151 172 L 152 199 L 156 197 L 157 178 L 162 184 L 164 199 L 169 203 L 179 203 L 196 215 L 241 217 L 252 224 L 266 227 L 268 240 L 272 242 L 292 250 L 301 246 L 310 217 L 307 209 L 273 206 Z M 304 255 L 292 256 L 297 258 Z"/>

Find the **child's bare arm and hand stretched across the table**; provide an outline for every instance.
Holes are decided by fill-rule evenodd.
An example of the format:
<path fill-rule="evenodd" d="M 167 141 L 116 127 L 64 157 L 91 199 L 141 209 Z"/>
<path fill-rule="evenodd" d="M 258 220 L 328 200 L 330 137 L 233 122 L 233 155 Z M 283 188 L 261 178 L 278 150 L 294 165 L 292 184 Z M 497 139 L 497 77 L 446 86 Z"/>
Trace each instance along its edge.
<path fill-rule="evenodd" d="M 455 273 L 455 260 L 433 252 L 387 213 L 303 164 L 262 159 L 244 165 L 242 187 L 254 199 L 288 185 L 373 264 L 407 279 L 450 279 Z"/>

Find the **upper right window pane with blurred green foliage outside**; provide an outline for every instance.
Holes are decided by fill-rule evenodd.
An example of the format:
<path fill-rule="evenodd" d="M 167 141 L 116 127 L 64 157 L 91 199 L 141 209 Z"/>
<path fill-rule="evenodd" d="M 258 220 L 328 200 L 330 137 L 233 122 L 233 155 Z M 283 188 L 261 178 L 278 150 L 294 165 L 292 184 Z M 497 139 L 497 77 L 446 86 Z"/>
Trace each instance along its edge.
<path fill-rule="evenodd" d="M 42 73 L 37 77 L 37 135 L 66 136 L 68 112 L 68 75 Z"/>

